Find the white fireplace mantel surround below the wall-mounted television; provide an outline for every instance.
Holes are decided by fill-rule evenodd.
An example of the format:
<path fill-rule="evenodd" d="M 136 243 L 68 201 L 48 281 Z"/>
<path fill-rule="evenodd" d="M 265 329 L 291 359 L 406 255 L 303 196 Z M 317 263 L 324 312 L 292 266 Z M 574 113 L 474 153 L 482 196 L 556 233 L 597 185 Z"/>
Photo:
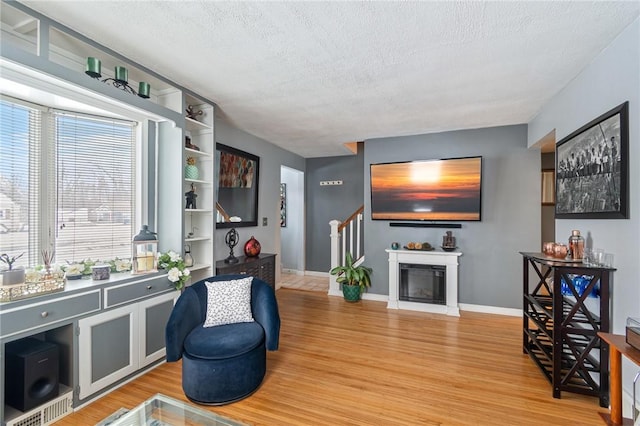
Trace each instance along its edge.
<path fill-rule="evenodd" d="M 413 311 L 433 312 L 460 316 L 458 308 L 458 257 L 460 252 L 422 251 L 422 250 L 391 250 L 389 253 L 389 302 L 388 309 L 408 309 Z M 431 303 L 407 302 L 399 300 L 400 263 L 416 265 L 440 265 L 446 271 L 446 305 Z"/>

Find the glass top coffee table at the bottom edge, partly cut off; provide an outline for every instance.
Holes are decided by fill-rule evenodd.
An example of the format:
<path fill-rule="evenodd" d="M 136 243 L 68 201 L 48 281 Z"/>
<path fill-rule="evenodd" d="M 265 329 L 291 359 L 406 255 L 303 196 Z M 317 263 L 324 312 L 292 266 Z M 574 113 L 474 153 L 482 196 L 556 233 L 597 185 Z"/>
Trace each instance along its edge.
<path fill-rule="evenodd" d="M 99 424 L 109 426 L 242 426 L 234 420 L 186 404 L 166 395 L 156 394 L 126 414 Z"/>

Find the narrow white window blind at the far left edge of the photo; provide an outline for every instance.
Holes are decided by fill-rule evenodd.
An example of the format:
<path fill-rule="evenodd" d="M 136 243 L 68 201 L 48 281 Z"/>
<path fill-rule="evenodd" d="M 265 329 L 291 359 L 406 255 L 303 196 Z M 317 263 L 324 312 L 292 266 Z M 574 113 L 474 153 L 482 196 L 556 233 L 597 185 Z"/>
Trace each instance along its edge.
<path fill-rule="evenodd" d="M 0 253 L 22 254 L 14 266 L 40 258 L 41 123 L 36 106 L 0 100 Z"/>

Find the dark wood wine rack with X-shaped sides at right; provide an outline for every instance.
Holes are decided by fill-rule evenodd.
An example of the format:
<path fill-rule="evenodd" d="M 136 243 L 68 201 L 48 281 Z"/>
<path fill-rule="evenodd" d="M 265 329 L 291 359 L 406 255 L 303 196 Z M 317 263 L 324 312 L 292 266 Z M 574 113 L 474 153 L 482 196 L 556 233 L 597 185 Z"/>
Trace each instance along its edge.
<path fill-rule="evenodd" d="M 542 253 L 523 257 L 523 339 L 529 354 L 553 386 L 561 391 L 597 396 L 601 407 L 609 406 L 609 346 L 599 332 L 610 324 L 609 286 L 615 269 L 566 262 Z M 538 282 L 529 288 L 529 271 Z M 573 285 L 583 277 L 584 289 Z M 553 281 L 551 281 L 553 279 Z M 562 282 L 567 283 L 563 286 Z M 598 293 L 592 297 L 592 292 Z"/>

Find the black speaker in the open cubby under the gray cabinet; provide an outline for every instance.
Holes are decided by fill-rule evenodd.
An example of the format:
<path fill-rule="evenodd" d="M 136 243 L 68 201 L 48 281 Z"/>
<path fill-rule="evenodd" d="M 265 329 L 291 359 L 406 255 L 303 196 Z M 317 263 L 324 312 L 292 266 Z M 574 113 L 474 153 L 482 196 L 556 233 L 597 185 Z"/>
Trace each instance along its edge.
<path fill-rule="evenodd" d="M 58 396 L 58 345 L 27 337 L 5 345 L 5 403 L 29 411 Z"/>

